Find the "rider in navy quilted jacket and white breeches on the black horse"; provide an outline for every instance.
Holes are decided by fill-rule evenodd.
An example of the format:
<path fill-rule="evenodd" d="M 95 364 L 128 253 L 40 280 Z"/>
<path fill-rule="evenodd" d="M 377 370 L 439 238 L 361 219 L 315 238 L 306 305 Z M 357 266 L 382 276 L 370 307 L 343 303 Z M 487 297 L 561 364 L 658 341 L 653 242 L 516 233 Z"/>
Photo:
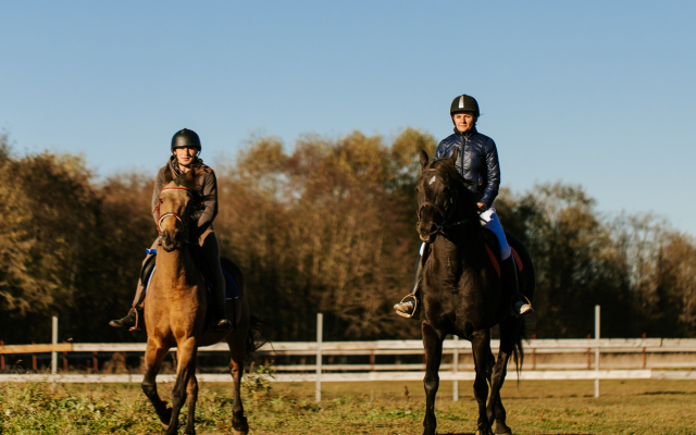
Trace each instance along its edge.
<path fill-rule="evenodd" d="M 533 311 L 532 304 L 519 291 L 514 257 L 511 254 L 510 245 L 508 245 L 502 226 L 500 226 L 496 209 L 493 207 L 493 201 L 496 199 L 500 186 L 500 165 L 498 164 L 496 144 L 492 138 L 476 130 L 480 112 L 478 103 L 473 97 L 462 95 L 455 98 L 449 114 L 455 123 L 455 134 L 439 142 L 437 151 L 435 151 L 435 159 L 448 158 L 455 152 L 455 149 L 459 149 L 459 158 L 455 166 L 457 172 L 469 182 L 467 184 L 469 190 L 478 198 L 481 223 L 493 231 L 498 238 L 504 283 L 507 283 L 508 290 L 512 296 L 512 312 L 515 315 L 524 315 Z M 402 300 L 394 306 L 397 314 L 405 318 L 411 318 L 415 314 L 417 290 L 423 274 L 421 259 L 425 249 L 428 247 L 423 244 L 415 261 L 411 294 L 403 298 L 412 300 Z"/>

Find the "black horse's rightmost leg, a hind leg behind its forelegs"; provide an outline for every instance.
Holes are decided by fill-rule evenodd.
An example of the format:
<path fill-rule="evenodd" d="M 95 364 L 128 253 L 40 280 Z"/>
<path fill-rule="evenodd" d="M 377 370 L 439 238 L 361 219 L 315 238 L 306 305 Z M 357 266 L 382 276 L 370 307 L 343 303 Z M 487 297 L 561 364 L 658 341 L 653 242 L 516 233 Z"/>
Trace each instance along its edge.
<path fill-rule="evenodd" d="M 498 360 L 493 369 L 493 378 L 490 381 L 490 400 L 488 401 L 487 414 L 493 423 L 496 420 L 496 434 L 512 434 L 512 431 L 506 424 L 506 411 L 500 399 L 500 389 L 508 374 L 508 361 L 514 350 L 514 340 L 519 331 L 521 320 L 508 318 L 500 322 L 500 350 L 498 351 Z"/>

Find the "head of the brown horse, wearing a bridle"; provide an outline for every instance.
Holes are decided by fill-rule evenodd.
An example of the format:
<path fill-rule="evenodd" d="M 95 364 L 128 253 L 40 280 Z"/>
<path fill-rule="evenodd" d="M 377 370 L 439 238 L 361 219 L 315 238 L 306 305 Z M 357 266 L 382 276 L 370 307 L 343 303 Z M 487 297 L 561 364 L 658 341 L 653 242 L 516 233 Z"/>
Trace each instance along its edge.
<path fill-rule="evenodd" d="M 167 182 L 166 174 L 165 182 Z M 160 190 L 158 232 L 162 248 L 167 252 L 179 249 L 182 241 L 186 241 L 195 190 L 195 169 L 169 181 Z"/>

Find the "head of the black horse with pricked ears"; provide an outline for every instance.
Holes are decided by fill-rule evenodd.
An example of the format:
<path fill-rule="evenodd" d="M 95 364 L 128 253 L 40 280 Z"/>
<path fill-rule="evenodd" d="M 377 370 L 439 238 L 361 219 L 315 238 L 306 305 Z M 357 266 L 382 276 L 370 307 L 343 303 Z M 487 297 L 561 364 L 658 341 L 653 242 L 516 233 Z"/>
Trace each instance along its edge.
<path fill-rule="evenodd" d="M 455 162 L 459 151 L 449 158 L 428 161 L 427 153 L 421 150 L 421 177 L 415 184 L 418 197 L 418 224 L 415 228 L 421 240 L 426 244 L 444 229 L 462 224 L 458 221 L 463 214 L 475 216 L 475 201 L 467 188 L 467 182 L 457 172 Z"/>

